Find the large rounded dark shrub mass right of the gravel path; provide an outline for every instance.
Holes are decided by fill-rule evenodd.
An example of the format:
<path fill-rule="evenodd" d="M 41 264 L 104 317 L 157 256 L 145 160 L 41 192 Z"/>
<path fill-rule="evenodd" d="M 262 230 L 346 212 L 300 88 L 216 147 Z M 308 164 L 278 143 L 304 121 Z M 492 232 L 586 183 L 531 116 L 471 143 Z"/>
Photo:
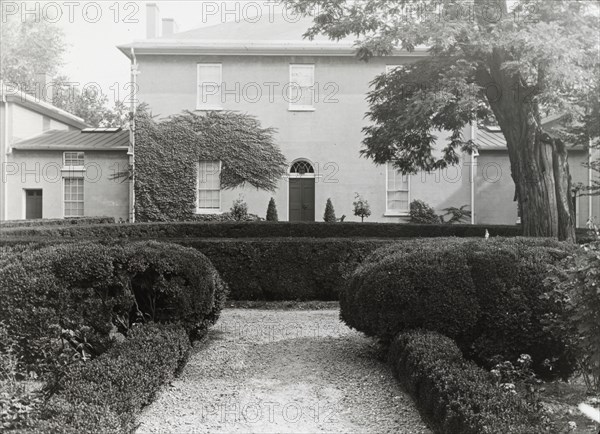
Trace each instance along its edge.
<path fill-rule="evenodd" d="M 341 317 L 386 342 L 410 329 L 438 331 L 483 364 L 526 353 L 538 374 L 566 378 L 575 368 L 570 338 L 544 325 L 561 304 L 543 295 L 549 267 L 574 248 L 527 238 L 395 243 L 354 271 L 340 293 Z"/>

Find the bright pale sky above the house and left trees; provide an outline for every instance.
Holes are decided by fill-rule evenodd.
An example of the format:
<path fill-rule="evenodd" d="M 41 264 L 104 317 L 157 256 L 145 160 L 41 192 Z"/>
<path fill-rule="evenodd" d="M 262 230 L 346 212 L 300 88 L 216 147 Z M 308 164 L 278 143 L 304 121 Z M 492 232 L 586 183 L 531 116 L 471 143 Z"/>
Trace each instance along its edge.
<path fill-rule="evenodd" d="M 173 18 L 179 31 L 224 21 L 255 17 L 279 0 L 188 0 L 188 1 L 9 1 L 2 0 L 3 19 L 30 17 L 60 26 L 67 52 L 61 73 L 83 88 L 92 83 L 109 98 L 128 94 L 130 61 L 116 46 L 146 38 L 146 4 L 156 3 L 161 18 Z M 96 84 L 93 84 L 96 83 Z"/>

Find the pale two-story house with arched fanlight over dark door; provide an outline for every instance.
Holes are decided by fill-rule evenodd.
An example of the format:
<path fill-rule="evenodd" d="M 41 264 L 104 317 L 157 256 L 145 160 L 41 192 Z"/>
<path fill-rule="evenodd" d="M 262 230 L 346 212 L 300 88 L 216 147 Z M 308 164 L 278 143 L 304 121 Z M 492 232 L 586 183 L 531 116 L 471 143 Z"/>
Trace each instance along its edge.
<path fill-rule="evenodd" d="M 172 20 L 163 20 L 162 35 L 158 14 L 158 7 L 148 4 L 147 39 L 118 47 L 139 72 L 137 99 L 160 117 L 183 110 L 252 114 L 277 129 L 276 141 L 289 161 L 275 193 L 221 190 L 218 180 L 203 173 L 219 162 L 199 162 L 198 179 L 211 179 L 211 185 L 198 182 L 199 213 L 227 211 L 242 193 L 249 211 L 258 215 L 264 216 L 273 196 L 280 219 L 319 221 L 331 198 L 338 216 L 359 220 L 352 203 L 360 193 L 371 206 L 369 221 L 406 221 L 413 199 L 439 213 L 469 205 L 473 223 L 517 221 L 506 145 L 497 132 L 482 131 L 479 154 L 462 155 L 457 166 L 437 173 L 406 176 L 391 164 L 377 166 L 360 156 L 371 81 L 427 56 L 425 49 L 399 50 L 365 63 L 356 58 L 352 40 L 304 39 L 310 20 L 285 11 L 180 33 L 173 33 Z M 476 134 L 474 128 L 464 132 L 466 138 Z M 498 140 L 488 144 L 489 135 Z M 448 134 L 437 136 L 442 143 Z M 579 164 L 586 158 L 582 154 L 571 163 L 575 181 L 589 182 Z M 580 211 L 584 224 L 591 212 L 587 201 Z"/>

